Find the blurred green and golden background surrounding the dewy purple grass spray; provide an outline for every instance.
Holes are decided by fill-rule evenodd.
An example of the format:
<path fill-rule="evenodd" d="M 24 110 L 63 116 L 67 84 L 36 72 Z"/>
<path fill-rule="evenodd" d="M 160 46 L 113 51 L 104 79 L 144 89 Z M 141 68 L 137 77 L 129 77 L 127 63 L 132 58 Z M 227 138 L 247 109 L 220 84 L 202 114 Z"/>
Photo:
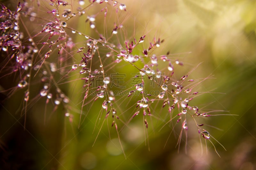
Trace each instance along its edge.
<path fill-rule="evenodd" d="M 123 25 L 126 27 L 128 37 L 135 34 L 138 39 L 146 34 L 148 41 L 154 36 L 164 39 L 161 50 L 156 52 L 165 54 L 170 51 L 174 54 L 173 58 L 179 58 L 184 63 L 184 73 L 203 62 L 193 71 L 191 79 L 214 75 L 214 79 L 206 80 L 198 87 L 200 91 L 212 93 L 201 95 L 195 102 L 198 106 L 206 106 L 209 110 L 228 111 L 220 114 L 237 115 L 213 116 L 202 121 L 216 127 L 204 128 L 207 128 L 227 151 L 212 140 L 220 158 L 212 144 L 207 141 L 206 148 L 202 136 L 199 136 L 203 143 L 202 151 L 197 131 L 194 129 L 194 131 L 188 130 L 187 154 L 185 154 L 184 134 L 180 151 L 177 153 L 178 149 L 175 145 L 178 141 L 179 128 L 175 127 L 176 135 L 172 133 L 167 141 L 172 128 L 166 126 L 159 131 L 163 123 L 159 125 L 155 120 L 149 122 L 149 151 L 148 143 L 144 138 L 142 115 L 138 115 L 140 117 L 130 122 L 119 134 L 125 158 L 115 129 L 107 127 L 106 123 L 103 124 L 93 145 L 102 124 L 100 120 L 95 125 L 100 109 L 97 104 L 101 104 L 102 101 L 96 101 L 92 108 L 84 107 L 84 112 L 88 115 L 78 129 L 79 111 L 75 110 L 79 107 L 70 111 L 75 114 L 76 121 L 73 123 L 64 117 L 64 110 L 58 108 L 56 112 L 48 114 L 51 117 L 44 125 L 45 100 L 40 99 L 28 110 L 27 130 L 24 130 L 22 126 L 24 120 L 20 119 L 19 111 L 16 113 L 22 108 L 20 96 L 24 94 L 19 91 L 17 95 L 1 104 L 3 107 L 0 115 L 2 148 L 0 153 L 3 167 L 9 165 L 9 169 L 255 169 L 256 2 L 252 0 L 120 0 L 120 2 L 127 6 Z M 77 24 L 78 30 L 82 29 L 83 25 L 79 25 L 79 20 L 73 22 Z M 103 24 L 103 21 L 97 23 Z M 109 29 L 113 28 L 111 24 L 108 26 Z M 76 39 L 82 41 L 79 40 L 79 36 Z M 122 67 L 118 69 L 121 73 Z M 10 79 L 12 80 L 12 77 Z M 79 85 L 76 84 L 75 87 Z M 65 88 L 67 89 L 64 91 L 70 93 L 73 97 L 72 101 L 76 103 L 76 95 L 68 90 L 74 86 Z M 77 98 L 77 101 L 81 101 L 81 98 Z M 134 101 L 136 102 L 136 99 Z M 119 107 L 119 112 L 128 110 L 125 104 L 120 104 Z M 132 114 L 128 113 L 126 119 Z M 161 113 L 156 114 L 156 116 L 160 115 Z M 167 145 L 164 147 L 166 141 Z"/>

